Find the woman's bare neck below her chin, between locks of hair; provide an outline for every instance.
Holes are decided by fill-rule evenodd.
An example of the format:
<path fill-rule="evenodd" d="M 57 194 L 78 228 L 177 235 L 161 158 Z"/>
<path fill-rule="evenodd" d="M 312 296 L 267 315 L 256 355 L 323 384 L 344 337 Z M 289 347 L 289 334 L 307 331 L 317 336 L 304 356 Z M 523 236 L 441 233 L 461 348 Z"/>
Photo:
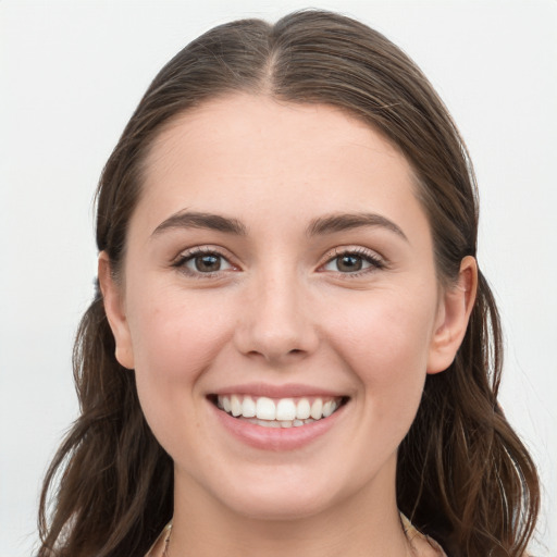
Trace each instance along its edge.
<path fill-rule="evenodd" d="M 176 479 L 177 480 L 177 479 Z M 382 479 L 376 479 L 382 480 Z M 411 555 L 392 482 L 375 481 L 309 516 L 255 519 L 176 481 L 169 557 L 403 557 Z M 194 487 L 194 490 L 193 490 Z"/>

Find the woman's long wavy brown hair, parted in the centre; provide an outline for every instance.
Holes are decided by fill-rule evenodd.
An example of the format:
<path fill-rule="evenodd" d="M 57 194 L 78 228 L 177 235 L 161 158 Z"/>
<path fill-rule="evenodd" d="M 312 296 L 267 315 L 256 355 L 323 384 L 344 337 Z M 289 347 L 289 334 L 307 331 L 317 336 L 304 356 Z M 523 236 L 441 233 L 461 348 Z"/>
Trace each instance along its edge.
<path fill-rule="evenodd" d="M 418 176 L 440 282 L 450 284 L 462 258 L 475 257 L 472 165 L 429 82 L 381 34 L 310 10 L 274 25 L 244 20 L 215 27 L 154 78 L 98 188 L 97 246 L 115 273 L 153 138 L 178 113 L 232 91 L 335 106 L 381 131 Z M 463 343 L 445 372 L 428 376 L 398 451 L 400 510 L 451 556 L 521 556 L 535 525 L 537 475 L 497 403 L 500 370 L 499 317 L 480 273 Z M 45 480 L 38 555 L 144 555 L 172 515 L 172 461 L 145 422 L 134 373 L 115 360 L 98 289 L 77 333 L 74 374 L 82 413 Z"/>

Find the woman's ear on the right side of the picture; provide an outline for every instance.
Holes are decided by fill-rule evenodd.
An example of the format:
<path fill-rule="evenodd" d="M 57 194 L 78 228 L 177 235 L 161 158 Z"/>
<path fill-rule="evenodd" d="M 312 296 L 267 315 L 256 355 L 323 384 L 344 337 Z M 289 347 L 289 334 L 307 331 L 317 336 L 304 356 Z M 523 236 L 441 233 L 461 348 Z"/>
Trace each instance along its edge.
<path fill-rule="evenodd" d="M 478 264 L 471 256 L 460 263 L 458 280 L 442 295 L 430 345 L 428 373 L 445 371 L 454 361 L 468 327 L 478 289 Z"/>

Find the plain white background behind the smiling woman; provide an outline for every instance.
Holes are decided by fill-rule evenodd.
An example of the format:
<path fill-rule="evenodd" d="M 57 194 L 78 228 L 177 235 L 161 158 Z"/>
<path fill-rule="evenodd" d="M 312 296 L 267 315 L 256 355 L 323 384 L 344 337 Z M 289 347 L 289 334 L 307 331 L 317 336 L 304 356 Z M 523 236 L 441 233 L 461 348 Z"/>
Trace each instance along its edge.
<path fill-rule="evenodd" d="M 39 484 L 76 416 L 73 335 L 92 295 L 92 191 L 157 71 L 282 0 L 0 0 L 0 557 L 32 554 Z M 536 556 L 557 556 L 557 1 L 323 1 L 422 66 L 475 163 L 480 265 L 500 305 L 502 399 L 543 480 Z"/>

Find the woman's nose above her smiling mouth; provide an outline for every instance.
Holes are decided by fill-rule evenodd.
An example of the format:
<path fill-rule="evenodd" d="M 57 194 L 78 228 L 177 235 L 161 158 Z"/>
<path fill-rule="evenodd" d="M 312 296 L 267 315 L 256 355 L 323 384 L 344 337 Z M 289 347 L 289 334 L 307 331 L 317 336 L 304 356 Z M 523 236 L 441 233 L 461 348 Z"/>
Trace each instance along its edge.
<path fill-rule="evenodd" d="M 295 272 L 267 272 L 249 290 L 235 331 L 242 354 L 281 366 L 317 349 L 311 298 Z"/>

